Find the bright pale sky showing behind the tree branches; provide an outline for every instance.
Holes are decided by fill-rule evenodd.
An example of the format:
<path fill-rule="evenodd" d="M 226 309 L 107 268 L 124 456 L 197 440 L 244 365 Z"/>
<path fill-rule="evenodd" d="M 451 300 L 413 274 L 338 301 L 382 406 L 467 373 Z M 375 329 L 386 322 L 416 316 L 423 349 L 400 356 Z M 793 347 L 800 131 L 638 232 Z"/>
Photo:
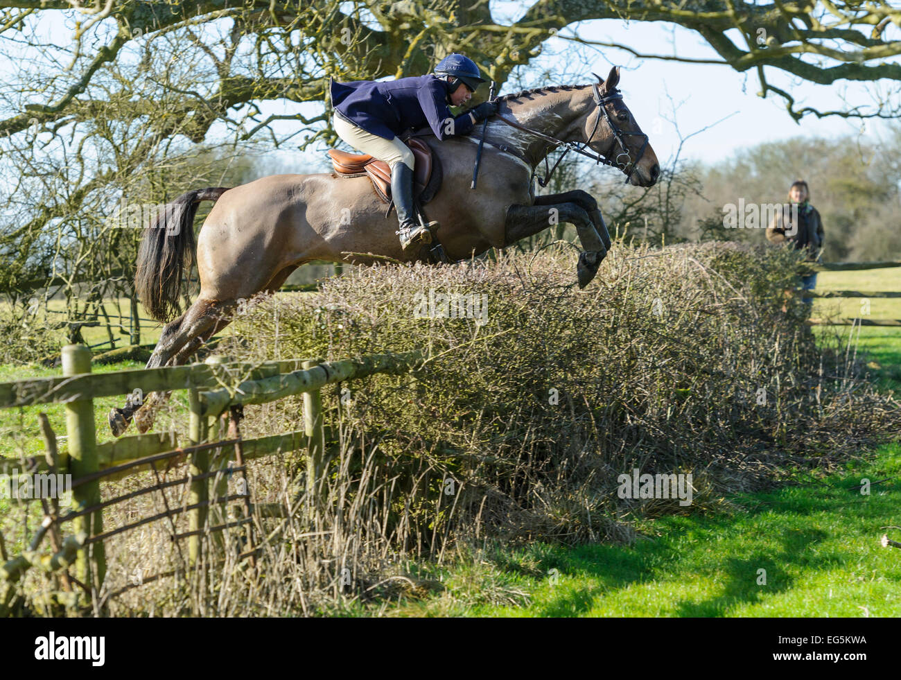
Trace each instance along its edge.
<path fill-rule="evenodd" d="M 492 0 L 491 8 L 498 23 L 508 23 L 517 19 L 532 5 L 532 2 L 498 2 Z M 48 13 L 49 14 L 49 13 Z M 63 23 L 63 13 L 50 14 L 49 19 L 41 19 L 41 26 L 51 39 L 65 41 L 71 36 L 71 23 Z M 572 33 L 572 28 L 563 28 L 560 35 Z M 581 38 L 591 41 L 623 41 L 645 54 L 677 53 L 681 57 L 717 59 L 714 50 L 705 44 L 695 32 L 667 23 L 626 23 L 620 20 L 603 20 L 578 25 Z M 733 36 L 735 40 L 735 36 Z M 762 141 L 779 141 L 804 136 L 834 138 L 845 134 L 863 134 L 869 140 L 884 133 L 884 124 L 869 121 L 861 127 L 860 120 L 844 120 L 837 116 L 817 119 L 805 116 L 797 124 L 787 113 L 781 97 L 770 94 L 767 99 L 757 95 L 760 85 L 756 73 L 740 74 L 727 66 L 706 64 L 686 64 L 659 59 L 639 59 L 623 50 L 591 45 L 574 45 L 562 38 L 553 38 L 546 43 L 546 54 L 536 59 L 532 74 L 541 72 L 542 67 L 566 70 L 576 61 L 587 60 L 589 70 L 606 77 L 611 66 L 619 65 L 621 70 L 620 88 L 624 102 L 633 112 L 642 129 L 651 136 L 651 145 L 658 158 L 672 159 L 679 137 L 669 120 L 675 120 L 682 135 L 700 132 L 688 139 L 680 159 L 695 159 L 708 164 L 727 159 L 734 152 L 751 147 Z M 573 59 L 573 52 L 577 50 Z M 569 50 L 569 51 L 568 51 Z M 0 67 L 0 74 L 3 68 Z M 767 77 L 774 85 L 791 92 L 796 104 L 815 105 L 821 109 L 842 108 L 845 104 L 839 97 L 842 86 L 815 86 L 782 75 L 777 69 L 767 68 Z M 526 76 L 530 86 L 538 86 L 532 77 Z M 587 82 L 586 77 L 576 77 L 570 82 Z M 552 83 L 547 83 L 551 85 Z M 563 84 L 563 83 L 560 83 Z M 501 94 L 513 91 L 508 84 Z M 849 86 L 851 101 L 869 103 L 864 86 Z M 678 109 L 673 112 L 673 101 Z M 322 104 L 296 104 L 284 101 L 269 101 L 261 105 L 262 117 L 269 113 L 319 113 Z M 290 134 L 296 130 L 296 122 L 273 123 L 280 134 Z M 212 141 L 223 133 L 224 126 L 211 129 L 208 140 Z M 274 168 L 279 171 L 303 172 L 325 168 L 324 147 L 301 153 L 296 150 L 296 142 L 288 142 L 287 148 L 272 154 Z M 296 169 L 291 169 L 296 168 Z"/>

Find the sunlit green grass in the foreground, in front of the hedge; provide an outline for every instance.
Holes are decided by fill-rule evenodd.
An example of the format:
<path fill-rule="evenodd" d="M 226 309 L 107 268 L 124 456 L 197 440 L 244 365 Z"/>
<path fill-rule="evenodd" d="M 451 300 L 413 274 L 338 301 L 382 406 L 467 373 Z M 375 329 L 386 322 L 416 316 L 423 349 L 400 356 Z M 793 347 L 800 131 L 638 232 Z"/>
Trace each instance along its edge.
<path fill-rule="evenodd" d="M 730 512 L 646 521 L 633 547 L 486 552 L 430 575 L 441 579 L 441 593 L 401 595 L 385 613 L 901 616 L 901 552 L 878 542 L 883 533 L 899 535 L 882 529 L 901 525 L 899 473 L 896 442 L 840 474 L 733 496 Z M 869 495 L 860 494 L 863 477 Z M 766 585 L 758 583 L 760 569 Z"/>

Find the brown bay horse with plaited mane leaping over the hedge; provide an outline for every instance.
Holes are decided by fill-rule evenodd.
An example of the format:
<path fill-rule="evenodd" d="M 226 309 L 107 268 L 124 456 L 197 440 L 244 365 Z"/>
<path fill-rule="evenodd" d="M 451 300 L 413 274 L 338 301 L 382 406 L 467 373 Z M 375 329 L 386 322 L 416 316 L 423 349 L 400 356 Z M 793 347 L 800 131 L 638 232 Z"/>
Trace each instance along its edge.
<path fill-rule="evenodd" d="M 429 140 L 443 177 L 429 213 L 440 217 L 436 236 L 447 258 L 459 261 L 505 248 L 550 228 L 553 214 L 557 222 L 576 228 L 584 248 L 578 284 L 587 286 L 611 246 L 597 202 L 582 190 L 536 196 L 536 168 L 542 160 L 546 168 L 551 150 L 564 146 L 619 168 L 633 186 L 652 186 L 660 176 L 648 137 L 616 88 L 619 67 L 611 68 L 606 79 L 595 77 L 589 85 L 538 87 L 496 99 L 476 191 L 470 189 L 469 175 L 481 126 L 466 136 Z M 197 204 L 207 200 L 215 204 L 195 243 Z M 424 248 L 401 249 L 396 220 L 389 219 L 365 176 L 272 175 L 241 186 L 195 189 L 167 207 L 144 232 L 135 277 L 145 310 L 166 324 L 148 368 L 187 363 L 231 322 L 239 300 L 274 294 L 311 260 L 431 261 Z M 181 313 L 181 279 L 192 259 L 200 292 Z M 143 403 L 130 397 L 123 409 L 112 409 L 108 421 L 114 435 L 120 436 L 132 418 L 139 431 L 149 430 L 155 407 L 167 396 L 150 394 Z"/>

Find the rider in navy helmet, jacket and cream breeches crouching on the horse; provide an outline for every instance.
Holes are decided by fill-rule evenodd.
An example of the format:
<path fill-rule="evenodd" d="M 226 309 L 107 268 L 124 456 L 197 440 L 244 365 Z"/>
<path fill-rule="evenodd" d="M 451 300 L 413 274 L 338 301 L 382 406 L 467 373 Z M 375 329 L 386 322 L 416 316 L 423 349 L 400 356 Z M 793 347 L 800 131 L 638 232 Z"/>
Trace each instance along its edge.
<path fill-rule="evenodd" d="M 448 104 L 460 106 L 469 101 L 478 84 L 484 82 L 476 63 L 462 54 L 441 59 L 434 72 L 425 76 L 387 82 L 332 80 L 332 125 L 338 136 L 391 168 L 391 196 L 403 249 L 422 240 L 427 230 L 414 213 L 413 151 L 397 135 L 426 124 L 439 140 L 469 134 L 477 122 L 497 112 L 497 104 L 484 102 L 457 117 Z"/>

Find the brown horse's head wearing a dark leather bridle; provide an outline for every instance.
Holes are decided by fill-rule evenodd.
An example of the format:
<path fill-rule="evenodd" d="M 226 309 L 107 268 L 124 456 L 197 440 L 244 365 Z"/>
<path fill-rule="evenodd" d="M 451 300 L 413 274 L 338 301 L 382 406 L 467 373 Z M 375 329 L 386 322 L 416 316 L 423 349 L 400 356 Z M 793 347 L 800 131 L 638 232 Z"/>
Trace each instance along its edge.
<path fill-rule="evenodd" d="M 619 67 L 610 69 L 604 80 L 597 74 L 593 83 L 592 101 L 594 110 L 588 113 L 581 142 L 598 155 L 610 161 L 614 168 L 620 168 L 626 181 L 634 186 L 652 186 L 660 177 L 660 163 L 651 149 L 648 136 L 635 122 L 629 107 L 623 103 L 619 85 Z"/>

